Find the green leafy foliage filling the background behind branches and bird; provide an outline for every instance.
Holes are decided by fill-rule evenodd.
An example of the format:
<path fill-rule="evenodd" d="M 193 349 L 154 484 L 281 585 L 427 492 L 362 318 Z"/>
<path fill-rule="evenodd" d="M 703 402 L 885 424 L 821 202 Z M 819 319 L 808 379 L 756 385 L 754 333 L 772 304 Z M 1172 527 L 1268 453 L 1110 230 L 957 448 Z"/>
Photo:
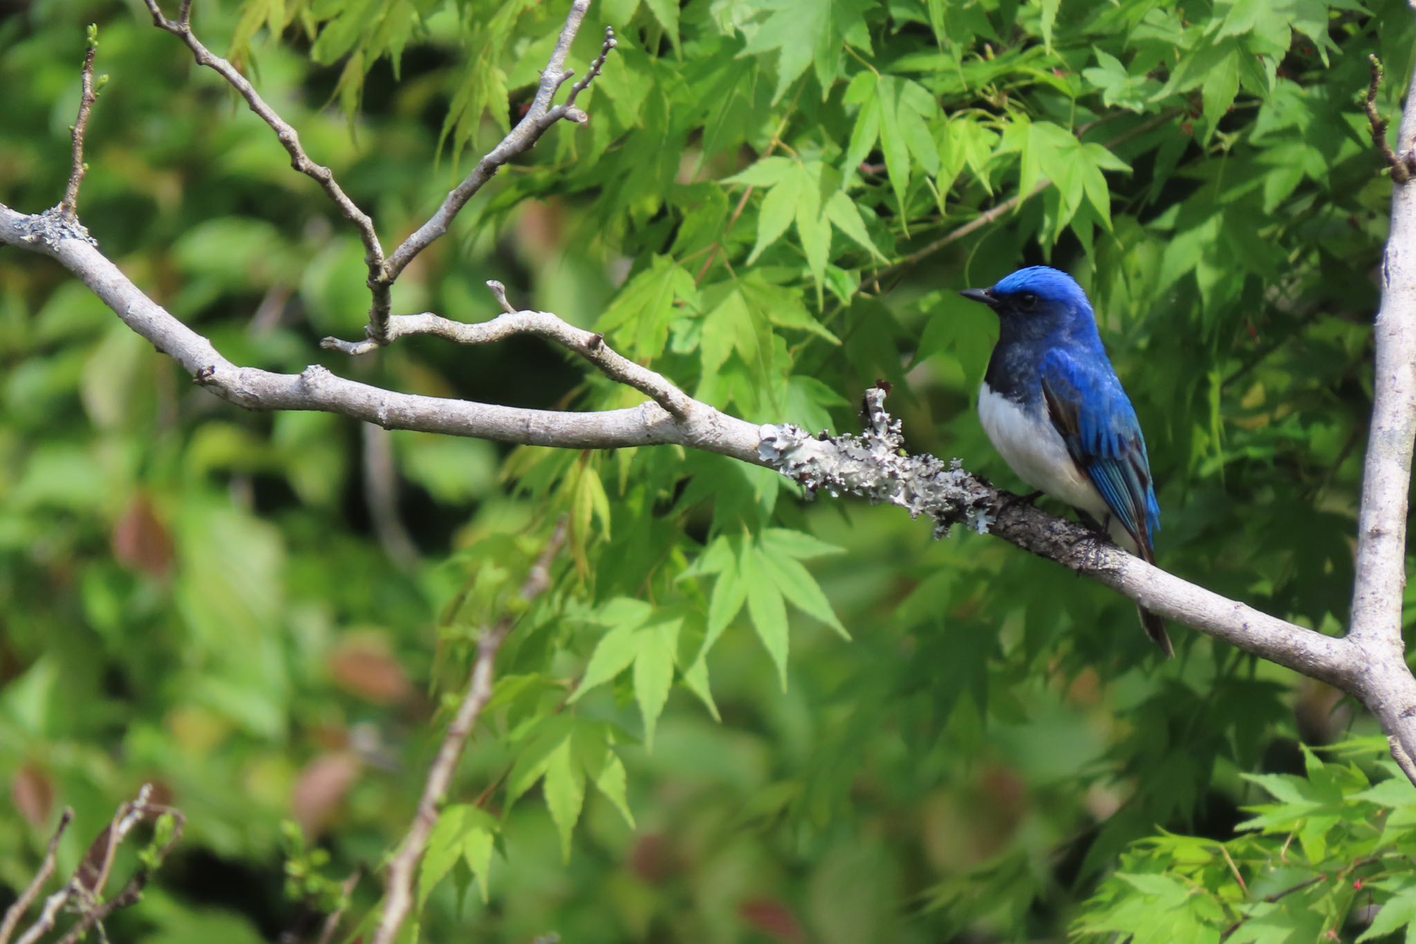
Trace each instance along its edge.
<path fill-rule="evenodd" d="M 389 245 L 517 120 L 565 6 L 198 0 L 194 24 Z M 110 81 L 81 217 L 227 357 L 640 399 L 534 340 L 319 350 L 361 330 L 355 234 L 133 0 L 0 3 L 0 201 L 62 192 L 89 21 Z M 1405 4 L 603 0 L 582 74 L 605 25 L 589 125 L 504 168 L 395 310 L 483 320 L 500 279 L 755 422 L 854 429 L 885 378 L 913 449 L 1015 485 L 971 409 L 994 326 L 954 290 L 1049 260 L 1147 430 L 1161 563 L 1341 630 L 1389 198 L 1358 96 L 1376 52 L 1396 113 Z M 1161 664 L 1127 601 L 990 538 L 680 449 L 241 413 L 14 249 L 0 405 L 0 887 L 58 807 L 71 869 L 150 780 L 187 829 L 113 940 L 307 937 L 357 863 L 368 920 L 476 637 L 562 517 L 409 936 L 1238 943 L 1416 916 L 1412 791 L 1365 742 L 1297 747 L 1369 732 L 1349 703 L 1184 630 Z"/>

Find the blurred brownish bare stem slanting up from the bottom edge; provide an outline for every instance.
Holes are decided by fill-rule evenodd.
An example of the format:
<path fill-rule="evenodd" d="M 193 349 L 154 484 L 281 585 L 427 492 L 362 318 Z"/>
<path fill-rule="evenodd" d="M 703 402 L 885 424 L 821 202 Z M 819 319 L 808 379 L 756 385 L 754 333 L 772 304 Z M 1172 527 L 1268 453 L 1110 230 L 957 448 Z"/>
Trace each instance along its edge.
<path fill-rule="evenodd" d="M 565 543 L 565 522 L 561 521 L 555 525 L 551 539 L 547 541 L 545 548 L 535 563 L 531 565 L 531 570 L 521 585 L 520 596 L 523 603 L 530 603 L 551 586 L 551 563 L 559 552 L 561 545 Z M 443 737 L 442 747 L 438 750 L 438 759 L 428 769 L 428 781 L 423 785 L 423 795 L 418 801 L 418 814 L 413 817 L 408 834 L 388 865 L 388 893 L 384 900 L 382 919 L 378 923 L 378 930 L 374 933 L 374 944 L 391 944 L 398 936 L 398 928 L 408 917 L 408 910 L 413 903 L 413 870 L 423 855 L 423 846 L 428 845 L 428 836 L 438 824 L 438 807 L 447 794 L 447 784 L 452 783 L 452 774 L 462 759 L 462 750 L 467 744 L 472 727 L 477 723 L 477 716 L 481 713 L 487 699 L 491 698 L 491 672 L 496 665 L 497 651 L 513 627 L 515 627 L 517 616 L 524 611 L 524 607 L 518 607 L 515 614 L 503 616 L 497 620 L 496 626 L 483 633 L 481 638 L 477 640 L 477 658 L 472 665 L 467 693 L 463 696 L 462 705 L 457 708 L 457 715 L 447 727 L 447 736 Z"/>

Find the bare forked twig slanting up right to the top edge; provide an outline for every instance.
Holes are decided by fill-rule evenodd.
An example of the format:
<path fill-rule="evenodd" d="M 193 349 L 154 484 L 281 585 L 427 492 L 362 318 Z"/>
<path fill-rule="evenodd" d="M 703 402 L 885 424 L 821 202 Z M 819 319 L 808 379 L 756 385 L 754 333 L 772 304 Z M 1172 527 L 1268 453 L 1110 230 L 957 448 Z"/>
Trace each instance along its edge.
<path fill-rule="evenodd" d="M 600 55 L 590 64 L 590 69 L 585 74 L 585 78 L 571 86 L 571 95 L 565 103 L 551 108 L 551 99 L 555 98 L 556 89 L 568 78 L 571 72 L 565 68 L 565 58 L 571 52 L 571 44 L 575 41 L 575 34 L 581 31 L 581 23 L 585 20 L 585 13 L 590 8 L 590 0 L 575 0 L 571 4 L 571 13 L 565 17 L 565 25 L 561 27 L 561 37 L 556 40 L 555 50 L 551 52 L 551 59 L 547 62 L 545 69 L 541 72 L 541 84 L 537 86 L 535 99 L 531 102 L 531 108 L 527 113 L 517 122 L 517 126 L 501 139 L 501 143 L 487 151 L 486 157 L 477 161 L 477 166 L 472 168 L 460 184 L 457 184 L 443 200 L 442 205 L 436 212 L 413 231 L 389 256 L 388 262 L 384 265 L 382 279 L 385 283 L 392 284 L 394 279 L 413 260 L 419 252 L 426 249 L 435 239 L 447 232 L 447 226 L 452 224 L 453 218 L 467 205 L 473 194 L 481 190 L 491 177 L 501 168 L 503 164 L 510 161 L 517 154 L 530 150 L 538 140 L 541 134 L 545 133 L 548 127 L 559 122 L 562 117 L 568 117 L 578 123 L 585 123 L 585 112 L 575 108 L 575 98 L 585 91 L 590 81 L 600 74 L 600 67 L 605 65 L 605 57 L 609 51 L 615 48 L 615 31 L 610 28 L 605 30 L 605 41 L 600 44 Z M 382 333 L 378 330 L 377 324 L 370 326 L 370 337 L 379 338 Z"/>

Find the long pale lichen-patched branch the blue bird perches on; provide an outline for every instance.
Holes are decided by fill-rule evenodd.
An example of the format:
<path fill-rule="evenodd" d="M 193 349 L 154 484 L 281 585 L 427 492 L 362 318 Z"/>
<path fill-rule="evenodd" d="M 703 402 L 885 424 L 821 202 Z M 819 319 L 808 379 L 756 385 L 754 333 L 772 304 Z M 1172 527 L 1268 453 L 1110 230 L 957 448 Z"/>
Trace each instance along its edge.
<path fill-rule="evenodd" d="M 207 338 L 144 296 L 95 246 L 68 235 L 59 235 L 52 242 L 47 241 L 34 232 L 40 229 L 47 234 L 48 229 L 44 226 L 42 215 L 25 217 L 0 207 L 0 243 L 23 246 L 58 259 L 130 328 L 177 359 L 197 382 L 246 409 L 314 409 L 374 422 L 389 429 L 419 429 L 565 449 L 668 443 L 690 446 L 779 468 L 809 488 L 845 491 L 891 501 L 915 514 L 930 514 L 943 525 L 963 521 L 970 526 L 987 526 L 991 534 L 1073 568 L 1148 610 L 1345 691 L 1352 692 L 1354 678 L 1359 671 L 1365 671 L 1365 667 L 1358 664 L 1354 647 L 1345 640 L 1325 637 L 1266 616 L 1188 583 L 1096 541 L 1095 535 L 1080 525 L 1010 502 L 1008 493 L 995 490 L 937 459 L 899 457 L 902 440 L 896 439 L 898 430 L 891 436 L 877 432 L 874 439 L 865 440 L 854 437 L 823 440 L 807 436 L 793 426 L 755 426 L 687 395 L 684 395 L 683 419 L 657 402 L 593 413 L 545 412 L 396 393 L 338 378 L 321 367 L 310 367 L 297 375 L 242 368 L 227 361 Z M 548 337 L 582 352 L 592 338 L 598 337 L 572 328 L 555 316 L 538 311 L 504 313 L 484 324 L 460 324 L 436 316 L 404 317 L 413 321 L 392 321 L 394 326 L 399 326 L 398 330 L 406 324 L 422 328 L 423 333 L 438 333 L 453 340 L 467 338 L 473 343 L 524 331 Z M 603 338 L 598 347 L 605 348 Z M 583 355 L 590 359 L 590 354 Z M 637 389 L 647 392 L 657 382 L 677 389 L 657 374 L 619 355 L 615 355 L 617 361 L 609 361 L 607 355 L 602 357 L 606 357 L 606 362 L 620 374 L 634 375 Z M 598 361 L 596 364 L 599 365 Z M 641 375 L 637 374 L 640 371 Z M 889 426 L 884 406 L 877 405 L 877 408 L 879 416 L 872 423 L 885 422 Z M 988 517 L 993 514 L 997 519 L 990 522 Z M 1406 679 L 1416 691 L 1416 679 L 1409 674 Z M 1398 689 L 1389 688 L 1389 691 Z M 1362 698 L 1372 706 L 1376 698 L 1375 689 L 1364 688 Z M 1416 695 L 1410 703 L 1416 705 Z"/>

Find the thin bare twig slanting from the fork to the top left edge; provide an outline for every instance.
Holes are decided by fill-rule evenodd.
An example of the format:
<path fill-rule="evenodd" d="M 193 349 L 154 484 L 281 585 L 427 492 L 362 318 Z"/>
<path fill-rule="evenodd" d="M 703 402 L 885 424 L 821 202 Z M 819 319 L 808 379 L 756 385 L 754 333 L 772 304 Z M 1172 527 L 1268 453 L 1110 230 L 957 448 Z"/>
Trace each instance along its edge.
<path fill-rule="evenodd" d="M 344 192 L 344 188 L 334 180 L 334 171 L 310 160 L 310 156 L 304 153 L 304 147 L 300 144 L 299 132 L 261 98 L 261 93 L 246 81 L 246 76 L 241 75 L 239 69 L 231 62 L 202 45 L 201 40 L 191 31 L 191 0 L 183 0 L 176 21 L 163 16 L 157 0 L 143 0 L 143 3 L 147 4 L 156 27 L 171 33 L 187 44 L 197 65 L 205 65 L 212 69 L 241 93 L 241 98 L 246 100 L 251 110 L 276 133 L 280 146 L 290 154 L 290 167 L 319 183 L 330 200 L 334 201 L 334 205 L 340 208 L 344 218 L 358 229 L 360 242 L 364 243 L 364 265 L 368 267 L 368 287 L 374 294 L 370 306 L 370 323 L 381 323 L 388 316 L 391 306 L 389 286 L 392 284 L 392 279 L 384 280 L 379 277 L 384 270 L 384 248 L 379 245 L 378 234 L 374 231 L 374 221 Z"/>

